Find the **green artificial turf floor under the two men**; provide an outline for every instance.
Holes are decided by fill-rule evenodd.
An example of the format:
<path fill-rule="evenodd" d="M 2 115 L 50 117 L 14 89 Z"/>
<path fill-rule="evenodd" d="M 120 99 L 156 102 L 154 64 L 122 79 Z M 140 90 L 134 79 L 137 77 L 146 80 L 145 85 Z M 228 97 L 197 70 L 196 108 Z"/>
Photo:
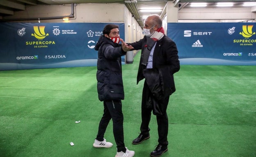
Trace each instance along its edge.
<path fill-rule="evenodd" d="M 136 55 L 123 65 L 124 136 L 135 157 L 149 157 L 158 144 L 155 115 L 151 137 L 131 143 L 141 123 L 138 62 Z M 256 157 L 256 66 L 181 65 L 174 77 L 162 157 Z M 114 146 L 92 146 L 102 114 L 95 66 L 0 71 L 0 157 L 114 157 L 112 122 L 105 138 Z"/>

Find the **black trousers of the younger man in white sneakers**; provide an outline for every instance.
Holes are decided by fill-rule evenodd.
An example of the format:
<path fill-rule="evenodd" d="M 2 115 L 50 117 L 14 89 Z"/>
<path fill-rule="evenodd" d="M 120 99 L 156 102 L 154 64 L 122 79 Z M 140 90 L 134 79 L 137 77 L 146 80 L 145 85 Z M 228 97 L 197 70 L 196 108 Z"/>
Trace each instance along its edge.
<path fill-rule="evenodd" d="M 104 140 L 104 134 L 107 129 L 107 125 L 112 118 L 113 134 L 117 144 L 117 151 L 126 152 L 126 148 L 123 142 L 123 112 L 121 100 L 105 100 L 103 101 L 103 105 L 104 113 L 98 127 L 98 134 L 96 139 L 98 141 Z"/>

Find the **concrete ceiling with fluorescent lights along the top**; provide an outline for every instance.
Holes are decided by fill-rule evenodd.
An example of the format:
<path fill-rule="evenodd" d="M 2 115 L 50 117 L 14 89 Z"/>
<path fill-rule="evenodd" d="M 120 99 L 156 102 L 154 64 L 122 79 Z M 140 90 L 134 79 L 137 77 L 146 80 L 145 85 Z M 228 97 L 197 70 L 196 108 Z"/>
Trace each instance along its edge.
<path fill-rule="evenodd" d="M 174 2 L 175 6 L 179 10 L 183 8 L 191 8 L 192 2 L 207 2 L 207 7 L 215 8 L 217 2 L 230 2 L 234 3 L 233 7 L 243 7 L 243 2 L 256 2 L 256 0 L 0 0 L 0 21 L 6 16 L 15 15 L 16 11 L 25 10 L 27 5 L 59 5 L 59 4 L 80 4 L 80 3 L 116 3 L 123 2 L 129 11 L 134 15 L 140 26 L 143 26 L 143 17 L 150 14 L 158 14 L 161 18 L 166 15 L 166 3 L 167 1 Z M 136 1 L 136 2 L 135 2 Z M 141 9 L 151 7 L 159 8 L 159 12 L 141 12 Z"/>

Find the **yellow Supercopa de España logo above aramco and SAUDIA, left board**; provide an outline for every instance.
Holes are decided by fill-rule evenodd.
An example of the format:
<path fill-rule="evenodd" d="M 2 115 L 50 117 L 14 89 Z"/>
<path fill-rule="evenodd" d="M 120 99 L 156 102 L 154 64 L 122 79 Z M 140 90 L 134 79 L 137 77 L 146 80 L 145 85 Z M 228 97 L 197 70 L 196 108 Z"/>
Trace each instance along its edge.
<path fill-rule="evenodd" d="M 34 26 L 34 33 L 31 36 L 34 36 L 38 41 L 27 41 L 26 45 L 33 45 L 34 48 L 47 48 L 48 45 L 55 44 L 55 41 L 43 41 L 49 34 L 45 33 L 45 26 Z"/>

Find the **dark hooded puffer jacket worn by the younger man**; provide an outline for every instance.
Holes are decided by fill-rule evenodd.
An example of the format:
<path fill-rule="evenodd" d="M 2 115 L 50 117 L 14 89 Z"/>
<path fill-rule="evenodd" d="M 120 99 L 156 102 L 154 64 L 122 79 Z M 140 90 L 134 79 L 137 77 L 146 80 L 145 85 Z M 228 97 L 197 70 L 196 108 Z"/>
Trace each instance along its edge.
<path fill-rule="evenodd" d="M 123 100 L 123 79 L 121 68 L 121 56 L 125 55 L 119 44 L 101 35 L 95 48 L 98 51 L 97 62 L 97 90 L 98 99 Z"/>

